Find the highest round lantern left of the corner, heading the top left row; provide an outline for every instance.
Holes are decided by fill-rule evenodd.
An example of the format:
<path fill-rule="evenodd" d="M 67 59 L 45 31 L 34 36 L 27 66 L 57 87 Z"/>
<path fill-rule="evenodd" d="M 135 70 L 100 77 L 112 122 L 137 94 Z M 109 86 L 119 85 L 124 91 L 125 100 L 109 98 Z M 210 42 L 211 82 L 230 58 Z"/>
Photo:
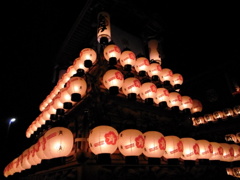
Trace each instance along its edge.
<path fill-rule="evenodd" d="M 83 59 L 84 66 L 90 68 L 97 60 L 97 53 L 92 48 L 84 48 L 79 53 L 80 59 Z"/>

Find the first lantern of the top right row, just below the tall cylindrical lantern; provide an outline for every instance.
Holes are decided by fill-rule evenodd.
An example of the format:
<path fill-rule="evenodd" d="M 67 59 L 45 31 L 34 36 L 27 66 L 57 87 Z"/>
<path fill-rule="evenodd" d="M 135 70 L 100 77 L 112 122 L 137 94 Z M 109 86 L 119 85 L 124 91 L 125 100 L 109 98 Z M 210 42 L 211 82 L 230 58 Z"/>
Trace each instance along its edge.
<path fill-rule="evenodd" d="M 116 65 L 117 61 L 120 59 L 121 50 L 115 44 L 107 45 L 104 50 L 104 58 L 108 61 L 110 65 Z"/>

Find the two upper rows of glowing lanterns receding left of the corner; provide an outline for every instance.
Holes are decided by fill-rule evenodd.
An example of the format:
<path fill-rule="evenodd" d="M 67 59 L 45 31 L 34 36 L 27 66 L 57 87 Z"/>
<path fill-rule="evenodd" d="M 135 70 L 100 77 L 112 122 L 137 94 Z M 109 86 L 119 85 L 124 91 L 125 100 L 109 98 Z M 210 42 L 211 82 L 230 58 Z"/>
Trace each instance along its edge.
<path fill-rule="evenodd" d="M 73 64 L 62 74 L 56 86 L 39 106 L 40 114 L 26 130 L 26 137 L 31 135 L 48 121 L 58 121 L 87 93 L 87 82 L 83 75 L 95 64 L 97 54 L 92 48 L 80 51 Z"/>

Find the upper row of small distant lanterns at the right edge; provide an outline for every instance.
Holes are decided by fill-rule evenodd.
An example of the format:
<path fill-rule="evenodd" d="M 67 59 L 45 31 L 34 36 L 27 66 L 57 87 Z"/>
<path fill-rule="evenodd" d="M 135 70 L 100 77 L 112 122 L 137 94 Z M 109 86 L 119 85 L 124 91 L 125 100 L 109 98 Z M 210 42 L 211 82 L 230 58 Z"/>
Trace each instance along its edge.
<path fill-rule="evenodd" d="M 193 126 L 200 124 L 207 124 L 209 122 L 217 122 L 218 120 L 226 120 L 227 118 L 234 118 L 240 115 L 240 105 L 236 105 L 233 108 L 225 108 L 222 111 L 215 111 L 203 116 L 192 117 Z"/>

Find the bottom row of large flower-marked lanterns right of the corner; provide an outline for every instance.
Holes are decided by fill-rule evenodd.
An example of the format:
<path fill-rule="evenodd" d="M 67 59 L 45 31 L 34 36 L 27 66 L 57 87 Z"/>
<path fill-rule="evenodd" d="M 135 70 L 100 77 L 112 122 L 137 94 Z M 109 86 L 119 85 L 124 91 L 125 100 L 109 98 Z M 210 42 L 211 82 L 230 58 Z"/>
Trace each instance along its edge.
<path fill-rule="evenodd" d="M 95 155 L 113 154 L 118 149 L 124 156 L 145 155 L 148 158 L 182 160 L 240 160 L 240 146 L 209 142 L 190 137 L 164 136 L 158 131 L 142 133 L 137 129 L 125 129 L 120 133 L 111 126 L 100 125 L 90 131 L 88 143 Z"/>

